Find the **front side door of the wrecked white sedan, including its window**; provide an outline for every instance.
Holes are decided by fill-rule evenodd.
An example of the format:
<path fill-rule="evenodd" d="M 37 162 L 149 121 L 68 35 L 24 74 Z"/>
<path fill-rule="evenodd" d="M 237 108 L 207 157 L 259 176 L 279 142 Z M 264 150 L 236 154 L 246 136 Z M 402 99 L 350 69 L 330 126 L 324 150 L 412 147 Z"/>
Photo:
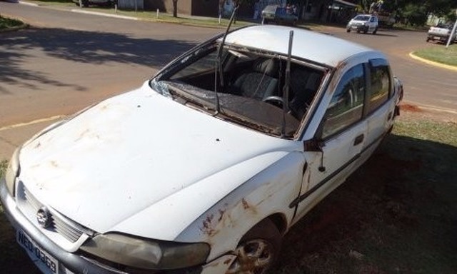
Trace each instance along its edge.
<path fill-rule="evenodd" d="M 297 220 L 356 167 L 367 134 L 367 122 L 363 120 L 365 75 L 363 64 L 357 64 L 343 74 L 326 107 L 318 133 L 313 141 L 305 141 L 307 167 L 300 196 L 291 204 L 297 206 Z"/>

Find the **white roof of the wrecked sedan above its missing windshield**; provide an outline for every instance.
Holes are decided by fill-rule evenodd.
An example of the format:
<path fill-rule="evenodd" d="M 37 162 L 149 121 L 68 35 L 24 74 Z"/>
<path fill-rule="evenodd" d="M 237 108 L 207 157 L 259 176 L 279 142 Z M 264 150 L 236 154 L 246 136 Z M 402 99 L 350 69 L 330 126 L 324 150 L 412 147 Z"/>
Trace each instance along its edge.
<path fill-rule="evenodd" d="M 329 34 L 288 26 L 248 26 L 231 32 L 226 44 L 287 54 L 289 31 L 293 30 L 292 56 L 335 67 L 348 57 L 373 51 L 366 46 L 339 39 Z"/>

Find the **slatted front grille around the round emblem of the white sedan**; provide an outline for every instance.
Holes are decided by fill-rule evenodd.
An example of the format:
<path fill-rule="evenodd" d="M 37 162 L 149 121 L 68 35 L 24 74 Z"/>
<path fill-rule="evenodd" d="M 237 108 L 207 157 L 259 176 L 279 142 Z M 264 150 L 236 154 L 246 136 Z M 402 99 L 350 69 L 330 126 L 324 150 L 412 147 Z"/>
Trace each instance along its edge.
<path fill-rule="evenodd" d="M 24 186 L 24 183 L 19 181 L 17 186 L 17 199 L 18 199 L 18 208 L 21 210 L 24 215 L 34 223 L 37 227 L 41 228 L 38 221 L 36 220 L 36 213 L 44 204 L 40 203 Z M 88 228 L 84 228 L 82 225 L 75 223 L 74 221 L 66 218 L 64 215 L 56 212 L 52 208 L 49 208 L 49 218 L 51 218 L 51 223 L 46 228 L 49 232 L 57 233 L 61 235 L 66 240 L 69 240 L 71 243 L 75 243 L 76 240 L 81 238 L 81 235 L 84 233 L 91 235 L 91 231 Z"/>

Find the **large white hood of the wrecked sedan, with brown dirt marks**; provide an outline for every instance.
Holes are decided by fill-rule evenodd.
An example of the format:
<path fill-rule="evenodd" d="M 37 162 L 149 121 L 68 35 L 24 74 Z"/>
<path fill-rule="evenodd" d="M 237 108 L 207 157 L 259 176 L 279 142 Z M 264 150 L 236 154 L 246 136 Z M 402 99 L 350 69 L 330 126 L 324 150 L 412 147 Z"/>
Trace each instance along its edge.
<path fill-rule="evenodd" d="M 173 240 L 300 148 L 176 103 L 145 83 L 26 143 L 20 179 L 39 201 L 99 233 Z"/>

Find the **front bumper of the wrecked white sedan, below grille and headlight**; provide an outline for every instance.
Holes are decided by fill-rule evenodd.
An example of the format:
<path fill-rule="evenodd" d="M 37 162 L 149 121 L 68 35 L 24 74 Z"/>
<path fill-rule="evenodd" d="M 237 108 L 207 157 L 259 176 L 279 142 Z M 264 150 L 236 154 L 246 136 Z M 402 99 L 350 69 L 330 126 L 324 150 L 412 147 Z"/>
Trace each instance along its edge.
<path fill-rule="evenodd" d="M 6 218 L 10 221 L 11 225 L 18 231 L 16 237 L 24 238 L 27 235 L 30 248 L 24 248 L 31 260 L 34 261 L 36 266 L 41 272 L 46 274 L 127 274 L 126 272 L 111 268 L 108 265 L 101 264 L 95 260 L 84 257 L 78 253 L 69 253 L 66 250 L 56 245 L 53 241 L 47 238 L 39 228 L 36 228 L 23 213 L 17 208 L 16 201 L 9 194 L 6 189 L 4 178 L 0 181 L 0 201 L 4 208 Z M 19 231 L 22 233 L 19 236 Z M 16 238 L 17 240 L 17 238 Z M 35 246 L 36 245 L 36 246 Z M 43 252 L 44 251 L 44 252 Z M 46 254 L 47 253 L 47 254 Z M 47 256 L 51 256 L 58 261 L 56 270 L 53 271 L 49 268 L 49 260 Z M 215 260 L 201 265 L 196 268 L 182 269 L 182 270 L 166 270 L 157 271 L 163 274 L 209 274 L 209 273 L 225 273 L 231 265 L 231 262 L 236 258 L 235 255 L 223 255 Z M 46 265 L 48 263 L 48 265 Z"/>

